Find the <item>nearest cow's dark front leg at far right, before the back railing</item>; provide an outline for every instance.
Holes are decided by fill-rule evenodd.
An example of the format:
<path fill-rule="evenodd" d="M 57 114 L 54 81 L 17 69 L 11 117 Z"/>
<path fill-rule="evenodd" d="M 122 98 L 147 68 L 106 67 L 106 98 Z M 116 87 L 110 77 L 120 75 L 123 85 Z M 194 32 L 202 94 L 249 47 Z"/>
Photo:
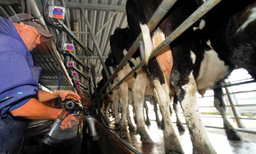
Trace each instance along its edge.
<path fill-rule="evenodd" d="M 223 123 L 224 123 L 224 129 L 227 135 L 228 139 L 232 140 L 238 140 L 241 141 L 241 137 L 237 134 L 237 131 L 234 130 L 233 126 L 230 124 L 226 117 L 226 105 L 223 101 L 222 97 L 222 88 L 215 88 L 214 89 L 214 106 L 219 111 L 219 113 L 222 115 Z"/>

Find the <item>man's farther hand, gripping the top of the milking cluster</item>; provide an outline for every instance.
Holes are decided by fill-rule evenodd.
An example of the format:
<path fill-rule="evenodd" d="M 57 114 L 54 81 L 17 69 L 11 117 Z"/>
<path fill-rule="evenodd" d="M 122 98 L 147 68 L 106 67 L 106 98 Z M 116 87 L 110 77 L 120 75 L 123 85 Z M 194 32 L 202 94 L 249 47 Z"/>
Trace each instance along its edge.
<path fill-rule="evenodd" d="M 65 99 L 73 99 L 81 103 L 81 97 L 70 90 L 54 90 L 53 92 L 61 98 L 61 101 L 64 101 Z"/>

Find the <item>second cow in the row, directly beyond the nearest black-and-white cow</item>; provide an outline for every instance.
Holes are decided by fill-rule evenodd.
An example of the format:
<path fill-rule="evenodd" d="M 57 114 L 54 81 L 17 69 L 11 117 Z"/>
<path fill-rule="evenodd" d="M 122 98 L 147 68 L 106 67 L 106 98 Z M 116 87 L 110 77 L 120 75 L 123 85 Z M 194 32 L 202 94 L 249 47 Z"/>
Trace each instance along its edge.
<path fill-rule="evenodd" d="M 124 55 L 128 51 L 128 49 L 133 44 L 133 37 L 130 29 L 120 29 L 117 28 L 114 34 L 110 37 L 110 46 L 113 54 L 113 62 L 115 66 L 117 66 L 121 59 L 123 59 Z M 139 50 L 138 50 L 139 52 Z M 137 52 L 137 53 L 138 53 Z M 139 63 L 139 54 L 135 57 L 137 63 Z M 117 75 L 118 80 L 120 81 L 127 73 L 129 73 L 134 67 L 133 62 L 129 61 L 129 63 L 124 66 L 122 70 Z M 145 129 L 145 121 L 143 116 L 143 103 L 144 96 L 147 95 L 146 92 L 150 92 L 153 95 L 153 88 L 151 84 L 150 77 L 148 77 L 147 72 L 141 69 L 133 77 L 129 77 L 124 83 L 120 84 L 120 92 L 121 92 L 121 107 L 122 107 L 122 120 L 121 120 L 121 130 L 120 136 L 122 138 L 128 137 L 127 132 L 127 118 L 124 115 L 127 115 L 128 109 L 128 92 L 132 91 L 133 101 L 135 104 L 136 117 L 137 117 L 137 134 L 140 135 L 140 140 L 143 143 L 153 143 L 150 136 L 147 134 Z M 151 90 L 147 90 L 151 89 Z"/>

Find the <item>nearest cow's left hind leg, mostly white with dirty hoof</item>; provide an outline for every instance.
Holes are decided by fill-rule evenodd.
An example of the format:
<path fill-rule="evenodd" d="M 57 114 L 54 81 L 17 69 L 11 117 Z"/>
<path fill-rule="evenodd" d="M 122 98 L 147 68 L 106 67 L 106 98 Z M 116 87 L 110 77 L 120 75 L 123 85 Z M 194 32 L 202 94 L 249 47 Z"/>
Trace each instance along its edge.
<path fill-rule="evenodd" d="M 173 123 L 170 118 L 170 97 L 168 84 L 162 84 L 158 79 L 153 80 L 154 95 L 157 99 L 160 110 L 162 111 L 162 117 L 165 124 L 164 140 L 166 153 L 183 154 L 179 139 L 174 131 Z"/>

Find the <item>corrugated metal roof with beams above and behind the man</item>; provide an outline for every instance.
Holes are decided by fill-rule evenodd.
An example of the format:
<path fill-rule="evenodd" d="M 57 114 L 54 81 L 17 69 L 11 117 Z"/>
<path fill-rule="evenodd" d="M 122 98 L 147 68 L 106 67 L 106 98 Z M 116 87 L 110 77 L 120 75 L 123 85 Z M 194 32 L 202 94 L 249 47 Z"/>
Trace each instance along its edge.
<path fill-rule="evenodd" d="M 34 9 L 42 13 L 43 0 L 27 0 L 36 4 L 34 8 L 30 4 L 31 14 L 35 16 Z M 81 42 L 93 51 L 93 60 L 85 56 L 83 51 L 75 44 L 75 56 L 80 59 L 84 65 L 90 67 L 90 62 L 94 62 L 96 72 L 96 82 L 102 78 L 102 64 L 99 60 L 98 52 L 105 59 L 111 52 L 109 38 L 117 27 L 127 27 L 127 18 L 125 13 L 126 0 L 55 0 L 55 6 L 66 8 L 66 17 L 64 23 L 71 29 L 72 33 L 81 40 Z M 8 18 L 12 15 L 21 13 L 19 0 L 0 0 L 0 15 Z M 48 27 L 49 28 L 49 27 Z M 50 29 L 50 28 L 49 28 Z M 51 30 L 55 36 L 59 34 L 57 30 Z M 56 37 L 55 37 L 56 38 Z M 71 42 L 67 42 L 71 43 Z M 59 73 L 61 73 L 61 89 L 73 89 L 70 79 L 65 75 L 65 71 L 60 68 L 56 56 L 49 43 L 42 42 L 40 46 L 32 51 L 34 63 L 43 68 L 39 83 L 46 88 L 53 90 L 59 85 Z M 63 56 L 60 55 L 63 59 Z M 66 65 L 66 64 L 64 64 Z M 83 71 L 77 64 L 77 69 Z M 84 73 L 84 72 L 83 72 Z M 80 75 L 80 82 L 87 86 L 87 81 Z"/>

